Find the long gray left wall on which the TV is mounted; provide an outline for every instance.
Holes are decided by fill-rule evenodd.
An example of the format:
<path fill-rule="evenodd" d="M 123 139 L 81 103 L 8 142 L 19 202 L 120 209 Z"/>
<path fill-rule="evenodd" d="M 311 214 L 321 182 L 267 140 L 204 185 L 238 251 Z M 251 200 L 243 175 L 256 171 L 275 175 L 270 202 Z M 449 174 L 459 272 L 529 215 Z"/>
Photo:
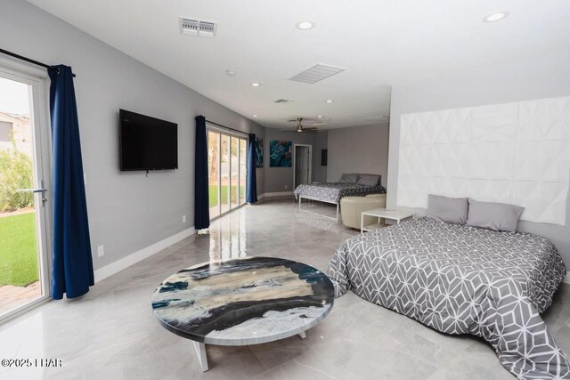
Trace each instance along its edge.
<path fill-rule="evenodd" d="M 75 88 L 94 267 L 151 246 L 193 225 L 194 117 L 265 137 L 241 117 L 37 7 L 0 0 L 0 46 L 77 74 Z M 191 68 L 189 68 L 191 69 Z M 179 170 L 149 174 L 118 170 L 118 109 L 178 124 Z M 292 176 L 292 174 L 291 174 Z M 258 193 L 265 192 L 257 171 Z M 183 224 L 182 216 L 186 215 Z"/>

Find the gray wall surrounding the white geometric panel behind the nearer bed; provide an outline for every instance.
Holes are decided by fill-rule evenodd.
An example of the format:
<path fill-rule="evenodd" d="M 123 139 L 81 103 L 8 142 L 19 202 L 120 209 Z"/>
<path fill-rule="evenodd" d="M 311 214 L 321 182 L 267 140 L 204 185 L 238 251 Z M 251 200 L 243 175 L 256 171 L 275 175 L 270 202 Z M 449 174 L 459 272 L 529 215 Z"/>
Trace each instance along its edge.
<path fill-rule="evenodd" d="M 537 57 L 465 75 L 394 85 L 390 109 L 387 207 L 393 208 L 397 204 L 401 115 L 567 95 L 570 95 L 570 53 L 550 59 Z M 570 202 L 566 205 L 566 226 L 520 222 L 519 230 L 550 239 L 558 247 L 566 265 L 570 266 Z M 415 211 L 425 214 L 422 209 Z"/>

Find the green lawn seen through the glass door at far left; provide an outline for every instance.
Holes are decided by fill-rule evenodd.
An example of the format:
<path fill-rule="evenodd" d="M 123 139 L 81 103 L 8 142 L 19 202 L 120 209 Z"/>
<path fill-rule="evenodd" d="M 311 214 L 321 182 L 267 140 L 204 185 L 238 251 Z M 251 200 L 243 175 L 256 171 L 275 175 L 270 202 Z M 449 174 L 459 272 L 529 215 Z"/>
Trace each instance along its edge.
<path fill-rule="evenodd" d="M 37 279 L 36 213 L 0 218 L 0 287 L 26 287 Z"/>

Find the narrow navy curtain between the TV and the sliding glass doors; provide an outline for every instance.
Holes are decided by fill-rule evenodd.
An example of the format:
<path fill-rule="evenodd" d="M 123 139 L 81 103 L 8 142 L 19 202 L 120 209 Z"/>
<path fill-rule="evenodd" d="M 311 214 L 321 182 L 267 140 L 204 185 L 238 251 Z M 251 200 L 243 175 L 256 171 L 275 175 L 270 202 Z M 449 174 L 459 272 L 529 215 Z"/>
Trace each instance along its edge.
<path fill-rule="evenodd" d="M 210 226 L 208 201 L 208 137 L 206 117 L 196 117 L 196 149 L 194 150 L 194 228 L 207 229 Z"/>

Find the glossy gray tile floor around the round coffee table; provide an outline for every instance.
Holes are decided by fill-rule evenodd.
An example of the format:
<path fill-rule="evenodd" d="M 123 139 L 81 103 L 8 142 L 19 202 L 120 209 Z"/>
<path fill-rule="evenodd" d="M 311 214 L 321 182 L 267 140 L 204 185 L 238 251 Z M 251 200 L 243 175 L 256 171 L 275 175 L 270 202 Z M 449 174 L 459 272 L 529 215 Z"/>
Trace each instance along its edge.
<path fill-rule="evenodd" d="M 304 205 L 305 207 L 305 205 Z M 334 207 L 307 206 L 323 214 Z M 247 226 L 247 229 L 246 229 Z M 151 294 L 169 274 L 209 258 L 281 256 L 326 271 L 354 235 L 340 223 L 299 212 L 292 201 L 240 208 L 194 235 L 95 285 L 84 297 L 45 303 L 0 327 L 0 359 L 62 360 L 61 368 L 2 368 L 2 379 L 509 379 L 488 344 L 447 336 L 352 293 L 307 333 L 246 347 L 208 346 L 202 373 L 191 343 L 154 318 Z M 544 315 L 570 352 L 570 286 Z"/>

